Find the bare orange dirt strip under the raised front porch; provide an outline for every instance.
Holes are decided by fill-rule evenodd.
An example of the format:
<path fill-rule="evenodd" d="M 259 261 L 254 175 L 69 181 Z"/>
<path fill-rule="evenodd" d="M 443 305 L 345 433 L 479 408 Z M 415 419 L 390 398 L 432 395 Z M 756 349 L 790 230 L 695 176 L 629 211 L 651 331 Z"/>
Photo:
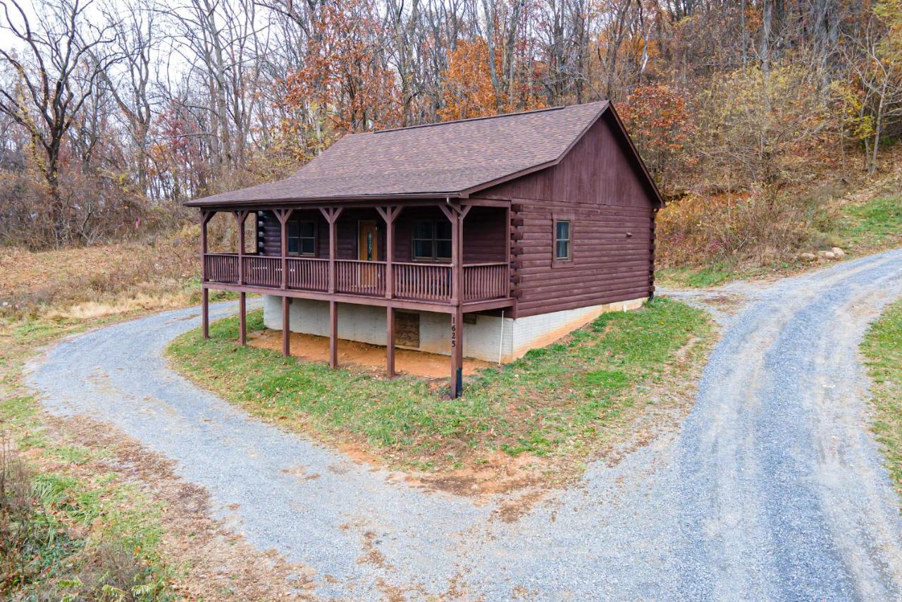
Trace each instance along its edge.
<path fill-rule="evenodd" d="M 249 333 L 248 344 L 253 347 L 281 351 L 281 330 L 265 329 Z M 316 362 L 327 362 L 329 359 L 328 337 L 292 332 L 290 345 L 293 357 Z M 385 372 L 385 347 L 339 340 L 338 364 L 361 367 L 382 374 Z M 465 359 L 464 375 L 474 375 L 488 366 L 492 366 L 492 364 L 479 359 Z M 395 349 L 395 370 L 399 374 L 447 378 L 451 371 L 451 358 L 437 353 Z"/>

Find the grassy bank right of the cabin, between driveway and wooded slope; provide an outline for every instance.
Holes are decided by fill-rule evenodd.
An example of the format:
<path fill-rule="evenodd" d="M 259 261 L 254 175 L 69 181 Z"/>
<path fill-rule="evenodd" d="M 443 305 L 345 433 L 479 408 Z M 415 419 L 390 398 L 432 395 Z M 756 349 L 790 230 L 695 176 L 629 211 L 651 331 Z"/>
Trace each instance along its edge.
<path fill-rule="evenodd" d="M 667 209 L 665 209 L 667 210 Z M 801 251 L 815 253 L 839 246 L 847 259 L 878 253 L 902 245 L 902 195 L 889 194 L 865 202 L 850 202 L 831 208 L 813 220 L 810 241 Z M 667 245 L 666 240 L 661 245 Z M 665 248 L 664 253 L 667 253 Z M 741 278 L 763 278 L 796 273 L 824 265 L 800 259 L 768 265 L 713 261 L 695 266 L 658 270 L 658 284 L 673 287 L 707 288 Z"/>

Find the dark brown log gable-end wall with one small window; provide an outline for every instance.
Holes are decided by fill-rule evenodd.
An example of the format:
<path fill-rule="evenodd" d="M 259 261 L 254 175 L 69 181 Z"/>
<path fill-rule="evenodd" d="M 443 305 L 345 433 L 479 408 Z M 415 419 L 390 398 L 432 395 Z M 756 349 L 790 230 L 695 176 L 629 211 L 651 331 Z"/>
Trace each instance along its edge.
<path fill-rule="evenodd" d="M 607 115 L 607 114 L 606 114 Z M 556 166 L 480 193 L 511 199 L 516 316 L 654 291 L 654 197 L 627 143 L 603 116 Z M 570 218 L 573 259 L 553 261 L 553 220 Z M 520 225 L 521 220 L 521 225 Z"/>

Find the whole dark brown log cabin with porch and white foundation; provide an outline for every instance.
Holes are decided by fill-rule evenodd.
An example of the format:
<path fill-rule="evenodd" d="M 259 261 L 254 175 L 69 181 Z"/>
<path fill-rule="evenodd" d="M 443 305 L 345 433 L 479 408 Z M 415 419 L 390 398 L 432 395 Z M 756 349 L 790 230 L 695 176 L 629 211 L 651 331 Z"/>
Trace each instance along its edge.
<path fill-rule="evenodd" d="M 284 354 L 290 331 L 327 336 L 331 366 L 339 338 L 384 345 L 390 376 L 396 347 L 446 354 L 457 396 L 465 356 L 511 361 L 648 300 L 664 201 L 603 101 L 347 134 L 286 179 L 186 205 L 205 337 L 210 289 L 239 293 L 243 344 L 262 293 Z M 216 212 L 235 253 L 208 252 Z"/>

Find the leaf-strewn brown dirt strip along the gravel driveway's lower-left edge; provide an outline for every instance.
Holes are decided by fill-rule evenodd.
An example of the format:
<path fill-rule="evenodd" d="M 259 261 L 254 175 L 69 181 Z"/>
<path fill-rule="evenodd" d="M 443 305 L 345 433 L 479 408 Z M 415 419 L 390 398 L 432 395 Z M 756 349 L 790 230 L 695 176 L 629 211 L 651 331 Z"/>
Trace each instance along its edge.
<path fill-rule="evenodd" d="M 44 415 L 54 439 L 111 452 L 75 468 L 84 475 L 115 473 L 161 504 L 161 549 L 170 566 L 183 569 L 172 588 L 190 599 L 316 599 L 314 571 L 257 551 L 244 537 L 210 517 L 203 487 L 177 477 L 174 462 L 145 449 L 108 424 Z"/>

